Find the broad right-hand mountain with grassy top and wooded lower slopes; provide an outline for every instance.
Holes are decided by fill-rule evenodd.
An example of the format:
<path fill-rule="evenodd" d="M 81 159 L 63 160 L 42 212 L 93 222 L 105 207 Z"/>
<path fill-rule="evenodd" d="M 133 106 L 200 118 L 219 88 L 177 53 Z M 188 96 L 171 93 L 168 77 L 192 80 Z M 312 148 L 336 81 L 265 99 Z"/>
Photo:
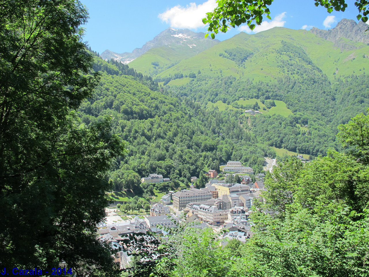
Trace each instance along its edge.
<path fill-rule="evenodd" d="M 335 32 L 351 38 L 346 25 L 338 24 Z M 203 109 L 212 109 L 210 102 L 217 109 L 219 101 L 228 112 L 238 109 L 238 121 L 259 142 L 313 158 L 339 150 L 337 125 L 369 106 L 368 45 L 336 42 L 285 28 L 241 33 L 153 78 Z M 273 109 L 268 103 L 274 101 L 283 101 L 290 112 Z M 243 114 L 251 108 L 262 115 Z"/>

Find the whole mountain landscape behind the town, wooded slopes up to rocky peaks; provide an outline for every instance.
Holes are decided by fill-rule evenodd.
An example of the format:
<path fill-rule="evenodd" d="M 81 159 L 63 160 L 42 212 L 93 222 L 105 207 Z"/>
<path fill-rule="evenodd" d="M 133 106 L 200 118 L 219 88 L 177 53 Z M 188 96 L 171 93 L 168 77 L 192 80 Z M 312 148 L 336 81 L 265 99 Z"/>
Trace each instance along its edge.
<path fill-rule="evenodd" d="M 365 28 L 352 22 L 338 23 L 329 40 L 323 31 L 277 27 L 219 42 L 169 28 L 134 51 L 138 57 L 124 65 L 130 78 L 118 54 L 101 54 L 104 81 L 80 113 L 87 124 L 111 114 L 128 143 L 110 175 L 115 188 L 131 189 L 120 181 L 127 170 L 136 180 L 156 172 L 186 187 L 228 160 L 256 174 L 268 155 L 314 159 L 340 150 L 337 126 L 369 106 L 369 40 L 350 37 Z M 343 37 L 331 39 L 335 33 Z M 196 53 L 187 40 L 196 41 Z"/>

